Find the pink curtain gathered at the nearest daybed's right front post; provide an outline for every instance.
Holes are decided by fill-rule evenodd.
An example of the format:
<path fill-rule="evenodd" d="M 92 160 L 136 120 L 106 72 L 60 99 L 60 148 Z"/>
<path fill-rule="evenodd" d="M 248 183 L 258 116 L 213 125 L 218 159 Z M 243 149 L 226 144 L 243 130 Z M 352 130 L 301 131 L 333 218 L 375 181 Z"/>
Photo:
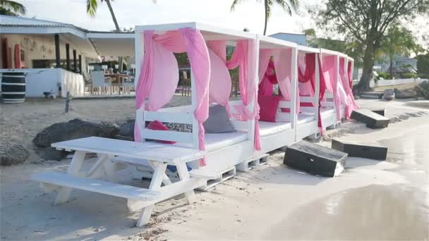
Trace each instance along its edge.
<path fill-rule="evenodd" d="M 243 106 L 234 106 L 238 115 L 234 115 L 240 121 L 255 119 L 254 148 L 260 150 L 259 135 L 259 105 L 256 93 L 256 54 L 257 49 L 255 40 L 238 40 L 236 49 L 229 61 L 226 61 L 226 67 L 229 69 L 238 68 L 238 86 L 240 88 L 241 101 Z M 253 102 L 253 111 L 248 109 L 248 104 Z"/>

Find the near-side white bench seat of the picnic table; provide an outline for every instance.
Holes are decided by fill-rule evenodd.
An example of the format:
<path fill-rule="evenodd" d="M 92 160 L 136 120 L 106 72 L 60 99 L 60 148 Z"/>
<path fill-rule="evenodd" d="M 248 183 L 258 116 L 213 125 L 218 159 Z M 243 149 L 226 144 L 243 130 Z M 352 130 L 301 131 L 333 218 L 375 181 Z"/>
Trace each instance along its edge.
<path fill-rule="evenodd" d="M 159 192 L 147 190 L 145 188 L 79 178 L 66 173 L 36 173 L 32 176 L 32 180 L 141 201 L 152 201 L 159 196 Z"/>

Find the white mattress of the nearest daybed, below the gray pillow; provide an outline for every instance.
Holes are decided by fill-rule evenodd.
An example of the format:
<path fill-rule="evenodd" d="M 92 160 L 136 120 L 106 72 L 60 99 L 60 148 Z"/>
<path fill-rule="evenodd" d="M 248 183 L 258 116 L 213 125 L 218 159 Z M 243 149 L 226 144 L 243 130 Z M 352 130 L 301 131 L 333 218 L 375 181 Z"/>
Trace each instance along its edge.
<path fill-rule="evenodd" d="M 205 150 L 211 152 L 247 140 L 247 132 L 237 131 L 228 133 L 205 134 Z M 192 148 L 192 143 L 176 143 L 176 147 Z"/>

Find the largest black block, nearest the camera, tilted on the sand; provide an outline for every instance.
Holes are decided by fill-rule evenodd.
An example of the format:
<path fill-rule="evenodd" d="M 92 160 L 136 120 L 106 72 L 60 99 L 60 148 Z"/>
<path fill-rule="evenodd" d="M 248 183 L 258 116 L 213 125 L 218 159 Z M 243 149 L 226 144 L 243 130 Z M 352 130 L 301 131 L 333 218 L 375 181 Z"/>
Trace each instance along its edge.
<path fill-rule="evenodd" d="M 283 163 L 313 175 L 334 177 L 344 170 L 347 154 L 300 141 L 286 147 Z"/>

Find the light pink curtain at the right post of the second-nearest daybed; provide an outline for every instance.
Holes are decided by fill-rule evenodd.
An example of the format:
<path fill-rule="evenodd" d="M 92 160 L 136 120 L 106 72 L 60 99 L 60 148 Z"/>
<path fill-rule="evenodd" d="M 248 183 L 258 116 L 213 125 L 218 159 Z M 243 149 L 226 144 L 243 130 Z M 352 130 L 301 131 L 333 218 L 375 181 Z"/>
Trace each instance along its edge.
<path fill-rule="evenodd" d="M 273 53 L 273 58 L 279 89 L 282 91 L 284 100 L 291 101 L 292 49 L 279 49 Z M 296 85 L 296 113 L 299 113 L 299 103 L 299 89 Z"/>

